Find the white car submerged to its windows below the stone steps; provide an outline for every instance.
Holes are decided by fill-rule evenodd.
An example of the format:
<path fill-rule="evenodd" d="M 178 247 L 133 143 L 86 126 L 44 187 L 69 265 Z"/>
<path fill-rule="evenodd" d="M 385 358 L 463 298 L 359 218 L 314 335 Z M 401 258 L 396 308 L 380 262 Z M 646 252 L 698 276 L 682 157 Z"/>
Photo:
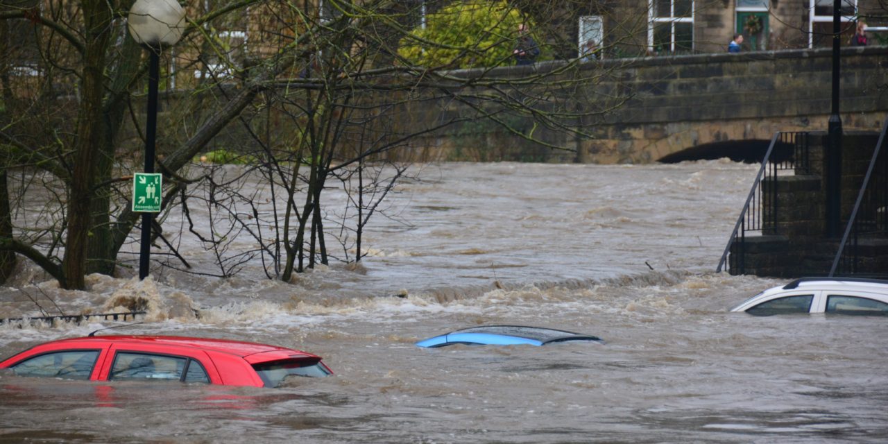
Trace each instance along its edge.
<path fill-rule="evenodd" d="M 766 289 L 732 312 L 759 316 L 839 313 L 888 316 L 888 281 L 860 278 L 803 278 Z"/>

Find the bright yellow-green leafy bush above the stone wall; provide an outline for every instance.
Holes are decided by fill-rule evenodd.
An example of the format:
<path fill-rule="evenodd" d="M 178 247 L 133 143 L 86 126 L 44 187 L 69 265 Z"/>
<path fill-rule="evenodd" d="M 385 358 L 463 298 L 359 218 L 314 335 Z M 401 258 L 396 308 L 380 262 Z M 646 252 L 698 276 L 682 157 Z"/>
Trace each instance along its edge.
<path fill-rule="evenodd" d="M 424 67 L 511 65 L 521 23 L 534 29 L 504 0 L 455 2 L 429 14 L 424 29 L 416 28 L 401 39 L 398 53 L 412 65 Z"/>

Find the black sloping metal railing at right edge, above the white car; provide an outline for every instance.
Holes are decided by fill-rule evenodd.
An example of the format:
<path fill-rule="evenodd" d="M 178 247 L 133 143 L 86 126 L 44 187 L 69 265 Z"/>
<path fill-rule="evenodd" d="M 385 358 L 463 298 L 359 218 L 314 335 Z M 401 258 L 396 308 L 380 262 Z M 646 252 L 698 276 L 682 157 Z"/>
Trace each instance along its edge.
<path fill-rule="evenodd" d="M 867 174 L 860 184 L 857 201 L 851 217 L 845 225 L 842 242 L 833 258 L 829 276 L 858 274 L 860 266 L 860 238 L 884 238 L 888 234 L 888 155 L 883 154 L 885 133 L 888 132 L 888 119 L 882 125 L 882 132 L 873 156 L 867 167 Z M 888 273 L 885 270 L 884 273 Z"/>

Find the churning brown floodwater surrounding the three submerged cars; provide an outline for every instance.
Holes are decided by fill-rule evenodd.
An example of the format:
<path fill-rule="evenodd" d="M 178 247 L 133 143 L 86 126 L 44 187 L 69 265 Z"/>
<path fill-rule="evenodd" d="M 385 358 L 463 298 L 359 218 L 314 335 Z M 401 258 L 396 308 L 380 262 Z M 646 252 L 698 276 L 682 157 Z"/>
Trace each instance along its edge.
<path fill-rule="evenodd" d="M 714 273 L 756 170 L 417 166 L 371 220 L 362 266 L 323 266 L 293 283 L 250 264 L 226 280 L 155 269 L 144 282 L 93 275 L 88 291 L 63 291 L 24 266 L 0 289 L 4 315 L 36 315 L 36 303 L 97 313 L 141 298 L 145 323 L 111 331 L 299 348 L 336 376 L 257 389 L 5 371 L 0 441 L 884 442 L 884 319 L 728 313 L 780 283 Z M 195 268 L 211 269 L 182 245 Z M 0 355 L 121 324 L 0 327 Z M 481 324 L 606 344 L 413 345 Z"/>

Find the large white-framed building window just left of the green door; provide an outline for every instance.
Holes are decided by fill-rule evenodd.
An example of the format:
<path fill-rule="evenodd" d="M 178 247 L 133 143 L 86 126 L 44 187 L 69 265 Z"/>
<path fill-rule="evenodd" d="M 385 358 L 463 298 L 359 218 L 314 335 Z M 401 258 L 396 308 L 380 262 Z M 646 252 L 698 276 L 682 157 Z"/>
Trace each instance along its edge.
<path fill-rule="evenodd" d="M 647 45 L 654 52 L 694 50 L 694 0 L 649 0 Z"/>

